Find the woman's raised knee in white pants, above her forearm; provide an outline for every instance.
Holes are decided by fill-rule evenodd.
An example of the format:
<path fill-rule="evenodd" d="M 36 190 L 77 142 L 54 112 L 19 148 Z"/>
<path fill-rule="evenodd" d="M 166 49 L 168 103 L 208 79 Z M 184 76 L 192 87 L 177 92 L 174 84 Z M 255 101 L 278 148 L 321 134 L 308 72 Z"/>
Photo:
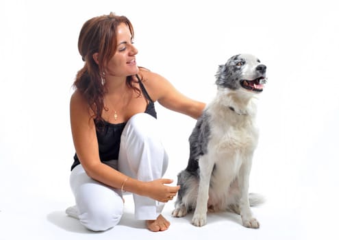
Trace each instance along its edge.
<path fill-rule="evenodd" d="M 129 119 L 121 136 L 118 169 L 139 180 L 160 178 L 167 168 L 157 120 L 147 113 Z"/>

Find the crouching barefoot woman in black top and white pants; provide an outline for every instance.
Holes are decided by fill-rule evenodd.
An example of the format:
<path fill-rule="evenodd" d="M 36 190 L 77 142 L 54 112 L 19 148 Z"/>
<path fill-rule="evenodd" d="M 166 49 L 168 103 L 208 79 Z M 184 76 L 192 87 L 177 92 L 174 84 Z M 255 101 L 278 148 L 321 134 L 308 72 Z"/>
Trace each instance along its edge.
<path fill-rule="evenodd" d="M 77 73 L 70 115 L 76 206 L 66 213 L 94 231 L 123 215 L 123 191 L 134 194 L 136 219 L 151 231 L 170 225 L 160 214 L 179 186 L 162 179 L 168 157 L 160 142 L 154 101 L 197 119 L 205 104 L 179 93 L 164 77 L 138 67 L 134 29 L 125 16 L 92 18 L 79 34 L 85 64 Z"/>

